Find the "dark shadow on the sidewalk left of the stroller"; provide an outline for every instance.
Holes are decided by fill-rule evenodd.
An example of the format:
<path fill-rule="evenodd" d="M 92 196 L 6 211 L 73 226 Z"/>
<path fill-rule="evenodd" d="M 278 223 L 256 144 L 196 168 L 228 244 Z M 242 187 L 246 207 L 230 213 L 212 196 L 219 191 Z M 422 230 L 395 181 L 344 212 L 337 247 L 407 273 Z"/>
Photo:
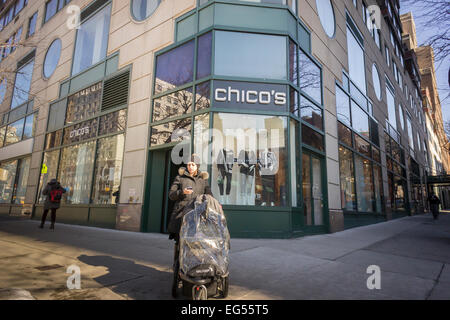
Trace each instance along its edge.
<path fill-rule="evenodd" d="M 131 260 L 110 256 L 81 255 L 78 260 L 91 266 L 108 268 L 108 274 L 93 280 L 127 299 L 172 299 L 172 272 L 159 271 Z"/>

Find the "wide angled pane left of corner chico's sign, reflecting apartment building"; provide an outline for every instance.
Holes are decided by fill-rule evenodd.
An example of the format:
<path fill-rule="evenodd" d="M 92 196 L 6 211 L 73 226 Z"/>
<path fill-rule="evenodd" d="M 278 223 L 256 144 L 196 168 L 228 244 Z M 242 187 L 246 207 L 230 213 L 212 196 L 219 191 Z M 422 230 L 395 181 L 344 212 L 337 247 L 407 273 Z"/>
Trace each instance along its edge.
<path fill-rule="evenodd" d="M 153 100 L 153 122 L 192 112 L 192 88 Z"/>

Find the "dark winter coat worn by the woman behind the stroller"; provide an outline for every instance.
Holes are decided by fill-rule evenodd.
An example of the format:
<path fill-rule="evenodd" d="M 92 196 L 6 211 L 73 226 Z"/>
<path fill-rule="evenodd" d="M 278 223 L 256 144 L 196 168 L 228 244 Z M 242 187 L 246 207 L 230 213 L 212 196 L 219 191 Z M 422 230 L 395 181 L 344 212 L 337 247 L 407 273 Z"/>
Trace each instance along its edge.
<path fill-rule="evenodd" d="M 186 168 L 180 168 L 178 170 L 178 176 L 172 183 L 169 190 L 169 199 L 175 201 L 172 214 L 170 216 L 168 231 L 169 233 L 180 232 L 182 216 L 177 216 L 187 208 L 187 205 L 192 203 L 192 200 L 202 194 L 213 195 L 211 187 L 208 183 L 208 172 L 201 172 L 194 177 L 189 175 Z M 192 194 L 184 194 L 183 190 L 187 187 L 192 187 Z"/>

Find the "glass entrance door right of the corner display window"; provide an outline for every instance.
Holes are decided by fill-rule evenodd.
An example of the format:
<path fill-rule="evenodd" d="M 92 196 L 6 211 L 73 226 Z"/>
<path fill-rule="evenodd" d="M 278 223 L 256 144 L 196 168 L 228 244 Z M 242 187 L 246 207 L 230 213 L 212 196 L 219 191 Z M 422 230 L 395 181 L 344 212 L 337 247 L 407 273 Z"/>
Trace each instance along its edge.
<path fill-rule="evenodd" d="M 312 153 L 302 155 L 303 215 L 305 226 L 323 226 L 324 181 L 323 158 Z"/>

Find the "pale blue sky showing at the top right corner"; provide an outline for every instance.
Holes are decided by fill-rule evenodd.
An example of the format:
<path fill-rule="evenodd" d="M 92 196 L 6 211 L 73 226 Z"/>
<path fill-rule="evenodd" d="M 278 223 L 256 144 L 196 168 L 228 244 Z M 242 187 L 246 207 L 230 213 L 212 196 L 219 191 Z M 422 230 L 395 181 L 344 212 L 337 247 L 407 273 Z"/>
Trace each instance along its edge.
<path fill-rule="evenodd" d="M 417 2 L 420 2 L 418 0 Z M 426 23 L 421 21 L 420 8 L 415 5 L 402 6 L 403 1 L 400 0 L 400 13 L 404 14 L 412 11 L 414 21 L 416 23 L 417 43 L 422 45 L 426 42 L 429 35 L 436 32 L 435 29 L 427 26 Z M 447 22 L 450 24 L 450 20 Z M 442 63 L 435 63 L 436 68 L 436 81 L 438 84 L 439 98 L 441 100 L 442 116 L 444 121 L 450 121 L 450 97 L 446 98 L 450 94 L 450 88 L 448 83 L 448 72 L 450 69 L 450 57 L 444 59 Z"/>

